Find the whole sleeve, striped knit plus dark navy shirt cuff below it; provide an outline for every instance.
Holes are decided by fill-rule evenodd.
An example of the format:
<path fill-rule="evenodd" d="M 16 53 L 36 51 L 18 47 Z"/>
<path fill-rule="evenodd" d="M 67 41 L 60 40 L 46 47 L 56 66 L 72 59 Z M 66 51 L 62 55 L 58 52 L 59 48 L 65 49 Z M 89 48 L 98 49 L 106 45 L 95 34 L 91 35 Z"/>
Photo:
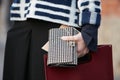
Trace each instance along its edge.
<path fill-rule="evenodd" d="M 91 51 L 97 50 L 98 27 L 101 21 L 100 0 L 78 0 L 78 25 L 81 26 L 82 37 Z"/>

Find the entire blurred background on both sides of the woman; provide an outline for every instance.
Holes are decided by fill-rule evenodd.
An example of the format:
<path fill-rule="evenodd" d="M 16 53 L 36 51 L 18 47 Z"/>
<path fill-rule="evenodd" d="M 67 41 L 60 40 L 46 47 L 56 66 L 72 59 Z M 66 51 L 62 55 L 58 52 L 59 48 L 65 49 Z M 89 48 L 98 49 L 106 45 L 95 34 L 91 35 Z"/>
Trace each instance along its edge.
<path fill-rule="evenodd" d="M 0 0 L 0 80 L 2 80 L 6 33 L 13 22 L 9 21 L 11 0 Z M 102 0 L 102 22 L 99 44 L 112 44 L 114 80 L 120 80 L 120 0 Z"/>

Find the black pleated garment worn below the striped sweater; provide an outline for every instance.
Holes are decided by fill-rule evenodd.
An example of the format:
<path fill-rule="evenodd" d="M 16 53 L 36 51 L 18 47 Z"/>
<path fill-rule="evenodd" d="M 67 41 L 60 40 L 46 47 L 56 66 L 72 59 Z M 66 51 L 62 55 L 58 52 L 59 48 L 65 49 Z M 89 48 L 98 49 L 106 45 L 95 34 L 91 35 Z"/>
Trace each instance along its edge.
<path fill-rule="evenodd" d="M 28 19 L 16 21 L 8 31 L 3 80 L 45 80 L 41 47 L 48 41 L 48 30 L 60 24 Z"/>

